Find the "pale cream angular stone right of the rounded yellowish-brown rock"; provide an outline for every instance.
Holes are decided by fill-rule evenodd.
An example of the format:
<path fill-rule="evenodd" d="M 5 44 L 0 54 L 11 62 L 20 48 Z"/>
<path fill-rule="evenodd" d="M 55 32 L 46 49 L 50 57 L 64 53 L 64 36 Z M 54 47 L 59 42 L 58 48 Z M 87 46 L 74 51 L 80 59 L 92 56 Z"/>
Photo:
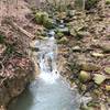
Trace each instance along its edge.
<path fill-rule="evenodd" d="M 105 75 L 95 74 L 94 80 L 96 84 L 101 85 L 106 80 L 106 78 L 107 77 Z"/>

